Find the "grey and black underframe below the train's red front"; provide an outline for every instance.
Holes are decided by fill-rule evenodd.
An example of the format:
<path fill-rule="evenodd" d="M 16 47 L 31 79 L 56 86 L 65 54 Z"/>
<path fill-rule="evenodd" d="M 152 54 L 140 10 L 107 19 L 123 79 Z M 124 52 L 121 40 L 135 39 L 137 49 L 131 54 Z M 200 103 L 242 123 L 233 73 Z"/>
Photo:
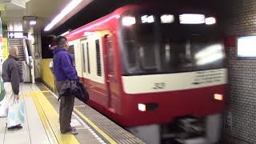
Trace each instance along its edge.
<path fill-rule="evenodd" d="M 147 144 L 214 144 L 220 140 L 222 114 L 197 118 L 175 118 L 169 124 L 129 127 L 127 130 Z"/>

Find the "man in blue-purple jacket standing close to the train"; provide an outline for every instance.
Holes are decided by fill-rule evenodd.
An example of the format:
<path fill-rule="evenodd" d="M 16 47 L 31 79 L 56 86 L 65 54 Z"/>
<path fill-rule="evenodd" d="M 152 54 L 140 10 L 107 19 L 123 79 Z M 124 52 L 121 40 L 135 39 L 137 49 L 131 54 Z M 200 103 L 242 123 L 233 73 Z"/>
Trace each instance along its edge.
<path fill-rule="evenodd" d="M 65 37 L 59 36 L 56 40 L 57 47 L 54 48 L 54 76 L 58 92 L 66 80 L 78 80 L 74 61 L 67 52 L 69 44 Z M 70 126 L 72 112 L 74 110 L 74 95 L 60 97 L 59 122 L 62 134 L 78 134 L 74 127 Z"/>

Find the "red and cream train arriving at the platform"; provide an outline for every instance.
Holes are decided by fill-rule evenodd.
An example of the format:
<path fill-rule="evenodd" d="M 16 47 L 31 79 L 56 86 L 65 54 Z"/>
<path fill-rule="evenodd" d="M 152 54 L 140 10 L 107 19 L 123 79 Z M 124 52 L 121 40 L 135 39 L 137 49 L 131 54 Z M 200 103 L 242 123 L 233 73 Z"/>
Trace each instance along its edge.
<path fill-rule="evenodd" d="M 218 141 L 227 81 L 214 15 L 124 6 L 66 38 L 90 106 L 148 143 Z"/>

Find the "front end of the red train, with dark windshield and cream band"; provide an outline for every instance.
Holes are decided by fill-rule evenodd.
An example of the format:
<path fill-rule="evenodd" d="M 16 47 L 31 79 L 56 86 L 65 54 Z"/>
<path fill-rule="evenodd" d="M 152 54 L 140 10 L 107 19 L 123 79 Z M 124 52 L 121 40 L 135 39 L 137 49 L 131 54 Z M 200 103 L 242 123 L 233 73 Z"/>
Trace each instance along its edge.
<path fill-rule="evenodd" d="M 122 14 L 120 122 L 148 143 L 218 142 L 227 83 L 221 35 L 217 18 L 202 11 Z"/>

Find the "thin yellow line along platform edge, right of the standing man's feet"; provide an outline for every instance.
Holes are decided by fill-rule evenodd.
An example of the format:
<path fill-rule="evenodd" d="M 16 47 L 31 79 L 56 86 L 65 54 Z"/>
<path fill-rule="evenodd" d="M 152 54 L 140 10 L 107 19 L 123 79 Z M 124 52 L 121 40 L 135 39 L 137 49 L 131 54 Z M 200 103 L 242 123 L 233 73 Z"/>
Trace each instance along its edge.
<path fill-rule="evenodd" d="M 108 142 L 111 144 L 116 144 L 117 142 L 114 141 L 113 138 L 110 138 L 109 135 L 107 135 L 103 130 L 101 130 L 98 126 L 94 124 L 94 122 L 91 122 L 89 118 L 87 118 L 84 114 L 82 114 L 78 109 L 74 108 L 74 111 L 77 112 L 86 122 L 90 124 L 95 130 L 98 131 L 99 134 L 102 135 L 102 137 L 106 138 Z"/>

